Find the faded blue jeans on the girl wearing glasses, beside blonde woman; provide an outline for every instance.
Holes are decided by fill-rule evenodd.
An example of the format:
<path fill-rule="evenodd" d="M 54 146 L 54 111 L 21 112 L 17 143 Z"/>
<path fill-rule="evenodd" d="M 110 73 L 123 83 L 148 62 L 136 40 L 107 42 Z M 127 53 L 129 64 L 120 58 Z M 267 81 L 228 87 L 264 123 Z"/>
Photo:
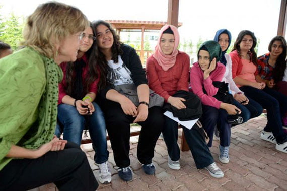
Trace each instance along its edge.
<path fill-rule="evenodd" d="M 101 108 L 93 102 L 95 112 L 92 115 L 81 115 L 74 106 L 68 104 L 58 105 L 58 124 L 55 135 L 64 133 L 64 140 L 81 144 L 82 133 L 88 126 L 90 137 L 95 150 L 95 162 L 101 164 L 109 157 L 107 150 L 106 124 Z M 61 126 L 63 126 L 63 131 Z"/>

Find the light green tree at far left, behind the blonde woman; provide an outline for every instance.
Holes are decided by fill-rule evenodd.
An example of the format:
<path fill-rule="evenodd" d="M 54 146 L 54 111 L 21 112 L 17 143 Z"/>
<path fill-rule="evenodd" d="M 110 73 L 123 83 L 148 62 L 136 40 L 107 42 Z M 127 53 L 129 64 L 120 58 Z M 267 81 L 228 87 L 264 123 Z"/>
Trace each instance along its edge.
<path fill-rule="evenodd" d="M 19 22 L 20 19 L 22 19 L 22 23 Z M 4 25 L 4 27 L 1 28 L 1 25 Z M 0 40 L 10 44 L 11 48 L 16 50 L 19 46 L 19 42 L 23 41 L 23 17 L 17 17 L 11 13 L 9 18 L 2 22 L 1 25 Z"/>

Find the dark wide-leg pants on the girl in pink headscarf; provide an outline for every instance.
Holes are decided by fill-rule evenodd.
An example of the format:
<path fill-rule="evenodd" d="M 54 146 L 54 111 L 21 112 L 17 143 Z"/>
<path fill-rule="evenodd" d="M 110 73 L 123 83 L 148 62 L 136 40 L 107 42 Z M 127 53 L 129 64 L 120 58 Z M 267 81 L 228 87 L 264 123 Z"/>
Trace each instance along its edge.
<path fill-rule="evenodd" d="M 177 161 L 180 158 L 180 150 L 177 144 L 178 138 L 178 123 L 171 118 L 165 116 L 165 125 L 163 128 L 164 141 L 167 145 L 168 155 L 171 160 Z M 195 165 L 198 169 L 207 167 L 213 163 L 213 157 L 210 154 L 209 148 L 205 140 L 199 132 L 193 128 L 191 130 L 183 127 L 184 137 L 193 156 Z"/>

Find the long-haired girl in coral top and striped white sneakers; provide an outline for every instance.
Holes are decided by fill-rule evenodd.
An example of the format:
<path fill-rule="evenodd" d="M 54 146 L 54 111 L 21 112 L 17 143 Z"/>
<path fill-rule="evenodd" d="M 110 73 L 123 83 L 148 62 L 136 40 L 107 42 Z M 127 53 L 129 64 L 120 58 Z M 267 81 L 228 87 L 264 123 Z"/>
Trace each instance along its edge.
<path fill-rule="evenodd" d="M 287 135 L 282 128 L 282 118 L 287 111 L 287 97 L 266 87 L 265 82 L 257 82 L 257 56 L 254 50 L 257 39 L 253 32 L 243 30 L 238 34 L 233 51 L 232 76 L 234 82 L 245 95 L 267 109 L 267 125 L 261 139 L 276 144 L 276 149 L 287 153 Z"/>

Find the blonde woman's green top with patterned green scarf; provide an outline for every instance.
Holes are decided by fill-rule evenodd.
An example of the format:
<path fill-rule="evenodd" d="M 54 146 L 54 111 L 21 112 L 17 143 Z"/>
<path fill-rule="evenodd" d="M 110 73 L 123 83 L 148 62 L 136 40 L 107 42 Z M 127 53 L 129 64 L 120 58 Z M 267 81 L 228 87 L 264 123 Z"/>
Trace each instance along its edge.
<path fill-rule="evenodd" d="M 0 170 L 11 145 L 37 149 L 52 140 L 62 71 L 30 47 L 0 59 Z"/>

